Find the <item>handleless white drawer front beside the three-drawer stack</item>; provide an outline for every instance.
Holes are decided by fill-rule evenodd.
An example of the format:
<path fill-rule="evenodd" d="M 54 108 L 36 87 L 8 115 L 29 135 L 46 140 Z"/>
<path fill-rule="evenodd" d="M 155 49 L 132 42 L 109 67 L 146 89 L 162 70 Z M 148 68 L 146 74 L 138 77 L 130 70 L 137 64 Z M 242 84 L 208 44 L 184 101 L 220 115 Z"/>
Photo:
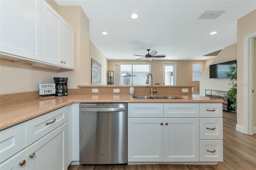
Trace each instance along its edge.
<path fill-rule="evenodd" d="M 199 104 L 164 103 L 164 117 L 199 117 Z"/>

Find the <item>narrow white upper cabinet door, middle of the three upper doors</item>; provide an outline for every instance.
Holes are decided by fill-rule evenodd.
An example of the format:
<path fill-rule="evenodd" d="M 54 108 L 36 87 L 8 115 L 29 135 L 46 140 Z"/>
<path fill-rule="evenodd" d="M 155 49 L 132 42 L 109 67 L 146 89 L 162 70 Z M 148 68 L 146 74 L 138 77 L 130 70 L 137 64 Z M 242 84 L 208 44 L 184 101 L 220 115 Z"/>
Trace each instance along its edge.
<path fill-rule="evenodd" d="M 42 60 L 60 65 L 62 55 L 63 18 L 45 1 L 42 1 L 43 56 Z"/>

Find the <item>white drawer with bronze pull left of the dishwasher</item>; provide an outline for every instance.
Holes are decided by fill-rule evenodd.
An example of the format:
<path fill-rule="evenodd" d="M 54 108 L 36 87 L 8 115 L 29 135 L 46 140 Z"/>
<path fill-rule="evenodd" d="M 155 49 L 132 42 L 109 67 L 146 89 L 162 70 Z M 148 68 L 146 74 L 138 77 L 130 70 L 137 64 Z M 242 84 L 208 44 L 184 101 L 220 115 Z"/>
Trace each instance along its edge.
<path fill-rule="evenodd" d="M 67 122 L 67 107 L 62 107 L 46 115 L 26 122 L 26 146 L 42 138 L 55 128 Z"/>

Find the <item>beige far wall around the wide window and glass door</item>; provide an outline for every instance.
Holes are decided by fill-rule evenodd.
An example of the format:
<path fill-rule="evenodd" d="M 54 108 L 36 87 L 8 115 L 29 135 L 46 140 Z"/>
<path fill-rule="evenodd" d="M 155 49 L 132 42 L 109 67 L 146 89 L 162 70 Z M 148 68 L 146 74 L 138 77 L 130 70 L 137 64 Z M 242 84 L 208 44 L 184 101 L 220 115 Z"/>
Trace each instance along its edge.
<path fill-rule="evenodd" d="M 194 91 L 199 91 L 199 82 L 192 81 L 192 64 L 202 64 L 204 70 L 204 60 L 108 60 L 108 70 L 114 70 L 115 64 L 124 63 L 150 63 L 153 84 L 163 84 L 163 63 L 176 63 L 176 85 L 195 85 Z"/>

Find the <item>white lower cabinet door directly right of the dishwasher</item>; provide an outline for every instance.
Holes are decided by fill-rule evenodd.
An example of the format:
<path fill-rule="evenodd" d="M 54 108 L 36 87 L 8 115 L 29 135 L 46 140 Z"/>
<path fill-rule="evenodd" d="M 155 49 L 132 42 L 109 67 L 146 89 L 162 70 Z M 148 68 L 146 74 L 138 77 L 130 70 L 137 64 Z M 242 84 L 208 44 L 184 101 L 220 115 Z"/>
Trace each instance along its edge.
<path fill-rule="evenodd" d="M 128 119 L 128 162 L 163 161 L 163 118 Z"/>

